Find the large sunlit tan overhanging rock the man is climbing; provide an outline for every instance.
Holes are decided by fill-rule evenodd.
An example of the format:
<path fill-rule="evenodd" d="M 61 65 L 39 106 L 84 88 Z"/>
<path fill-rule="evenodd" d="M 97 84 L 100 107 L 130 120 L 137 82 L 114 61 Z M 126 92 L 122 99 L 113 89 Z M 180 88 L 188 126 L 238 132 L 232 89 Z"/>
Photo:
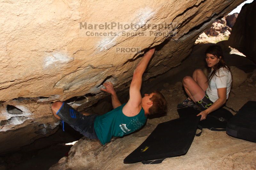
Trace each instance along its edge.
<path fill-rule="evenodd" d="M 117 89 L 128 88 L 126 84 L 146 48 L 162 43 L 144 80 L 178 66 L 191 52 L 197 37 L 216 18 L 228 14 L 243 1 L 0 2 L 0 142 L 6 143 L 0 146 L 0 153 L 29 144 L 42 134 L 54 133 L 49 129 L 54 129 L 58 120 L 53 116 L 47 119 L 52 115 L 51 102 L 68 100 L 82 110 L 107 95 L 99 90 L 105 81 L 112 81 Z M 87 36 L 87 30 L 83 26 L 80 29 L 80 23 L 84 22 L 132 22 L 141 27 L 125 30 L 126 33 L 149 35 L 152 31 L 170 31 L 173 36 Z M 164 23 L 172 26 L 169 29 L 150 26 Z M 122 47 L 139 47 L 142 52 L 117 53 L 117 48 Z M 22 113 L 8 113 L 7 105 L 19 108 Z M 12 119 L 22 116 L 13 123 Z M 14 144 L 15 135 L 3 136 L 14 131 L 26 135 L 22 130 L 26 126 L 35 128 L 31 130 L 33 135 L 27 135 L 21 144 Z M 46 133 L 35 135 L 43 127 Z"/>

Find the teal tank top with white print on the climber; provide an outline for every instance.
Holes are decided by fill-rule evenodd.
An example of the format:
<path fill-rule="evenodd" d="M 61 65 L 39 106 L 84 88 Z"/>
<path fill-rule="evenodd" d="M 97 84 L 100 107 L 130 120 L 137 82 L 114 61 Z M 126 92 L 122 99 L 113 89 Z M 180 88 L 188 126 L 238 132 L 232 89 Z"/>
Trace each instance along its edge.
<path fill-rule="evenodd" d="M 122 111 L 125 104 L 95 118 L 94 129 L 102 144 L 110 142 L 112 137 L 122 137 L 132 133 L 145 124 L 147 117 L 143 108 L 141 107 L 138 115 L 128 117 Z"/>

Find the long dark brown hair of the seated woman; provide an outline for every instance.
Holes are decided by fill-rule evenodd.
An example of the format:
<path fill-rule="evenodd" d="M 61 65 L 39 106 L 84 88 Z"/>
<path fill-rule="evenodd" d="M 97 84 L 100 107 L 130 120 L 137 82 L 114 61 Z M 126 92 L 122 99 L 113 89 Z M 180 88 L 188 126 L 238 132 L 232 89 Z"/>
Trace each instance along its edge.
<path fill-rule="evenodd" d="M 205 50 L 205 55 L 206 54 L 212 54 L 214 55 L 215 57 L 217 57 L 218 59 L 220 59 L 220 61 L 215 65 L 213 66 L 213 71 L 211 73 L 210 76 L 208 76 L 208 83 L 210 85 L 211 83 L 211 80 L 212 80 L 212 77 L 214 75 L 216 75 L 217 77 L 220 77 L 218 75 L 219 72 L 220 72 L 220 68 L 221 67 L 224 67 L 226 69 L 228 69 L 230 71 L 230 68 L 227 66 L 227 64 L 225 63 L 224 61 L 224 56 L 223 56 L 223 52 L 222 52 L 222 48 L 219 46 L 219 45 L 212 45 L 212 46 L 209 46 L 206 50 Z M 208 73 L 210 74 L 212 68 L 211 67 L 208 67 Z M 218 75 L 216 74 L 218 72 Z"/>

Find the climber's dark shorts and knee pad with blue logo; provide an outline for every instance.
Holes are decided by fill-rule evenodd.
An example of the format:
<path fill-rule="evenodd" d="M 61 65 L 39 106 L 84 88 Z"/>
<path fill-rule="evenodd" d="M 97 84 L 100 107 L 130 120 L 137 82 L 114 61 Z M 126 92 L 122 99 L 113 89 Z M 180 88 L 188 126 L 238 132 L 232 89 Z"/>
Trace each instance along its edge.
<path fill-rule="evenodd" d="M 64 102 L 56 115 L 60 116 L 61 120 L 68 123 L 73 129 L 80 132 L 85 137 L 98 139 L 94 129 L 94 120 L 97 115 L 85 116 Z"/>

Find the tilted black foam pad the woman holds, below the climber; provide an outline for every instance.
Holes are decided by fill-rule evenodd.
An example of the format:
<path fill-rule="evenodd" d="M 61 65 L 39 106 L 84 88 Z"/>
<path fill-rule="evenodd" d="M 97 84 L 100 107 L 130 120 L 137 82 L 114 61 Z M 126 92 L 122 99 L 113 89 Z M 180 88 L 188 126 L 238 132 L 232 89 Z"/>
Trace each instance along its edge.
<path fill-rule="evenodd" d="M 165 158 L 186 154 L 200 118 L 186 116 L 158 124 L 148 138 L 124 159 L 124 163 L 156 164 Z"/>

